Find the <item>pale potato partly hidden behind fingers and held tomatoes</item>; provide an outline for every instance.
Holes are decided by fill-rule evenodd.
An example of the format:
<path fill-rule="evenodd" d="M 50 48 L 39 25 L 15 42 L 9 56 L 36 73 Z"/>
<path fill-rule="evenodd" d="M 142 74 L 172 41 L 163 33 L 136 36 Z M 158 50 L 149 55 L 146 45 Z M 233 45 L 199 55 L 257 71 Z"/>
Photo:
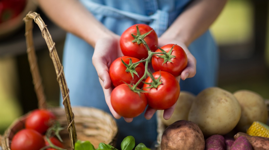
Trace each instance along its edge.
<path fill-rule="evenodd" d="M 163 118 L 163 110 L 160 110 L 160 118 L 163 124 L 165 124 L 165 126 L 169 126 L 170 124 L 173 124 L 178 120 L 187 120 L 189 109 L 191 108 L 191 104 L 194 98 L 194 94 L 187 91 L 181 91 L 177 100 L 175 110 L 169 120 L 165 120 Z"/>

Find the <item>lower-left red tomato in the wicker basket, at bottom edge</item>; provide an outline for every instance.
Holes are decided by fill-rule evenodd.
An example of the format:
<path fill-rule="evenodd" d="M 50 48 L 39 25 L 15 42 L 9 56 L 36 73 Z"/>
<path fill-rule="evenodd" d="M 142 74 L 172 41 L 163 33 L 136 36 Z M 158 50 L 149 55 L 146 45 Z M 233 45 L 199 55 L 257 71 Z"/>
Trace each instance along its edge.
<path fill-rule="evenodd" d="M 22 129 L 12 138 L 11 150 L 39 150 L 45 146 L 43 136 L 31 129 Z"/>

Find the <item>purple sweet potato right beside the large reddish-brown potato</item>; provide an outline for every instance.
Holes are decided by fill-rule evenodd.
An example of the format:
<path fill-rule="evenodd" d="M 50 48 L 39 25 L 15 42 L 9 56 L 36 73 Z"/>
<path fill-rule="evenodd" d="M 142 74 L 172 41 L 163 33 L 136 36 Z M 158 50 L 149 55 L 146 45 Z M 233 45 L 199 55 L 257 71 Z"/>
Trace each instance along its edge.
<path fill-rule="evenodd" d="M 225 150 L 225 139 L 222 135 L 211 135 L 205 140 L 205 150 Z"/>

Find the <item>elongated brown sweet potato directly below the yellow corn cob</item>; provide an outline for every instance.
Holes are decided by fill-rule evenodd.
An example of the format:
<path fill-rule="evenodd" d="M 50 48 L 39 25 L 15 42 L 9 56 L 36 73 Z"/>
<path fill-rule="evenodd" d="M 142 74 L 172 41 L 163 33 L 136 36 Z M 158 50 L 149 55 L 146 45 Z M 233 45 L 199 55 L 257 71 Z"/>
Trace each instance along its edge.
<path fill-rule="evenodd" d="M 252 148 L 254 150 L 268 150 L 269 149 L 269 138 L 268 137 L 260 137 L 260 136 L 250 136 L 243 132 L 238 132 L 234 135 L 234 139 L 238 139 L 239 137 L 244 136 L 248 139 Z"/>

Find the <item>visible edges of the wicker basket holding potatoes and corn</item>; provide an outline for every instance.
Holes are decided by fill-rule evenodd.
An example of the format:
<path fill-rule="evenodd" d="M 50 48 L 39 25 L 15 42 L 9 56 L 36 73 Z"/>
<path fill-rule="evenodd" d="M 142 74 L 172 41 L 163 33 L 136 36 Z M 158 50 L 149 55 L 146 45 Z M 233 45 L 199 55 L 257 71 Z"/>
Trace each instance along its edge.
<path fill-rule="evenodd" d="M 268 114 L 269 114 L 269 99 L 265 100 L 265 104 L 267 106 Z M 167 128 L 167 126 L 162 122 L 161 117 L 163 117 L 163 115 L 159 110 L 157 110 L 156 116 L 157 116 L 157 123 L 158 123 L 158 126 L 157 126 L 158 135 L 157 135 L 157 144 L 155 145 L 155 147 L 156 147 L 156 150 L 161 150 L 162 135 L 165 129 Z M 269 118 L 267 119 L 266 124 L 269 126 Z"/>

